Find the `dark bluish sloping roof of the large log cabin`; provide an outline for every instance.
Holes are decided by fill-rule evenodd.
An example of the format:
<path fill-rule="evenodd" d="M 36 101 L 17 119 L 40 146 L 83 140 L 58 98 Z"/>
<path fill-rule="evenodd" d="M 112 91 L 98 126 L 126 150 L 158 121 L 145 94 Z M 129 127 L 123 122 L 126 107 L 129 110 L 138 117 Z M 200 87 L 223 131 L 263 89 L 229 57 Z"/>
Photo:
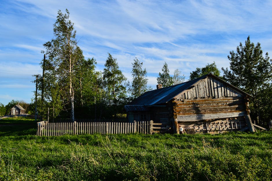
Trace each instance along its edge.
<path fill-rule="evenodd" d="M 241 92 L 244 95 L 247 95 L 249 97 L 252 97 L 251 95 L 247 94 L 246 92 L 238 89 L 237 87 L 223 81 L 222 79 L 214 76 L 213 74 L 206 74 L 203 75 L 199 78 L 196 78 L 192 81 L 187 81 L 184 83 L 180 83 L 177 85 L 172 85 L 169 87 L 163 87 L 161 89 L 155 89 L 152 91 L 148 91 L 145 92 L 144 94 L 142 94 L 141 96 L 139 96 L 138 98 L 134 99 L 133 101 L 131 101 L 128 105 L 126 105 L 125 109 L 126 111 L 132 111 L 132 108 L 128 108 L 130 106 L 134 106 L 138 105 L 138 106 L 154 106 L 154 105 L 161 105 L 163 103 L 167 103 L 168 101 L 170 101 L 172 98 L 174 98 L 175 96 L 177 96 L 178 94 L 180 94 L 181 92 L 183 92 L 186 89 L 189 89 L 192 85 L 194 85 L 195 83 L 197 83 L 198 81 L 207 78 L 208 76 L 219 80 L 220 82 L 228 85 L 229 87 L 236 89 L 238 92 Z M 135 109 L 136 110 L 136 109 Z M 139 111 L 139 110 L 137 110 Z"/>

